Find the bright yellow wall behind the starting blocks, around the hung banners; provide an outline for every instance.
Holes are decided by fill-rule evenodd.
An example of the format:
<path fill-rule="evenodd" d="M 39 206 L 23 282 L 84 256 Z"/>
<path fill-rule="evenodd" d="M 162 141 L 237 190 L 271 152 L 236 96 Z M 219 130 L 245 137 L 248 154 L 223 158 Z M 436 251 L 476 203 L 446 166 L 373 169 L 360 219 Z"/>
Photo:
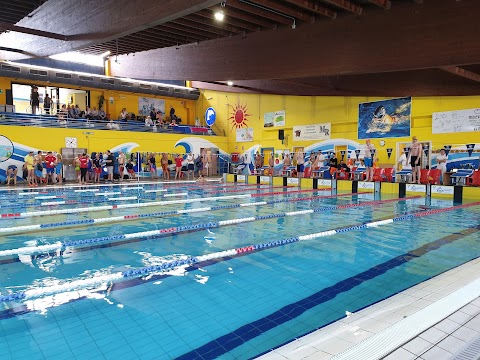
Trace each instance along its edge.
<path fill-rule="evenodd" d="M 293 142 L 292 126 L 294 125 L 331 123 L 332 139 L 345 138 L 358 141 L 358 104 L 381 99 L 373 97 L 235 94 L 205 90 L 202 91 L 199 100 L 196 102 L 195 112 L 204 121 L 205 110 L 208 107 L 212 106 L 216 110 L 217 121 L 214 129 L 225 131 L 230 152 L 248 149 L 255 144 L 260 144 L 262 147 L 274 147 L 278 150 L 292 150 L 294 146 L 309 146 L 319 142 Z M 433 150 L 443 148 L 444 145 L 476 143 L 479 141 L 478 133 L 432 134 L 432 112 L 471 109 L 478 107 L 479 103 L 480 96 L 414 97 L 412 100 L 411 135 L 416 135 L 420 141 L 431 141 Z M 253 142 L 236 143 L 236 127 L 233 115 L 234 109 L 239 107 L 244 107 L 246 109 L 245 113 L 249 115 L 245 116 L 245 123 L 248 127 L 254 129 Z M 278 110 L 286 111 L 287 125 L 283 129 L 287 141 L 284 141 L 284 144 L 281 140 L 278 140 L 278 130 L 282 127 L 263 127 L 263 114 Z M 383 148 L 379 145 L 380 140 L 372 140 L 377 149 L 393 148 L 390 160 L 387 159 L 385 150 L 383 152 L 382 150 L 379 151 L 380 163 L 393 163 L 394 159 L 397 158 L 397 142 L 410 142 L 411 138 L 386 138 L 384 139 L 386 144 Z M 364 141 L 359 142 L 364 143 Z"/>

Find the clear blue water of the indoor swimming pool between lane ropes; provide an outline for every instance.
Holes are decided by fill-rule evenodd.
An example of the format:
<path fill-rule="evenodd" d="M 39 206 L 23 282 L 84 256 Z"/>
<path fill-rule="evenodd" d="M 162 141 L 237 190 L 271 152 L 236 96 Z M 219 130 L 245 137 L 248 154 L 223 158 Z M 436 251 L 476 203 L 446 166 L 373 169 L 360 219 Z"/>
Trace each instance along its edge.
<path fill-rule="evenodd" d="M 115 187 L 100 189 L 110 191 Z M 161 192 L 188 192 L 164 198 Z M 344 229 L 405 214 L 452 206 L 425 199 L 374 199 L 373 194 L 321 198 L 329 191 L 293 192 L 261 186 L 145 185 L 126 190 L 125 202 L 79 195 L 71 189 L 42 189 L 89 204 L 43 206 L 45 210 L 189 199 L 193 202 L 1 219 L 0 227 L 78 219 L 201 209 L 272 200 L 257 206 L 219 208 L 181 215 L 104 224 L 52 227 L 0 236 L 2 250 L 95 239 L 171 227 L 262 217 L 235 225 L 178 234 L 89 243 L 63 252 L 0 257 L 0 294 L 52 288 L 63 283 L 158 265 L 228 249 Z M 281 194 L 224 199 L 230 195 Z M 290 192 L 290 194 L 289 194 Z M 312 198 L 317 196 L 317 198 Z M 203 200 L 218 197 L 214 200 Z M 39 209 L 35 199 L 3 192 L 2 213 Z M 94 199 L 92 199 L 94 198 Z M 195 200 L 197 199 L 197 200 Z M 373 200 L 376 202 L 372 203 Z M 388 200 L 388 202 L 386 201 Z M 48 200 L 51 201 L 51 200 Z M 365 205 L 362 206 L 362 203 Z M 350 204 L 358 206 L 348 207 Z M 3 207 L 5 206 L 5 208 Z M 331 207 L 335 207 L 331 209 Z M 312 214 L 268 217 L 320 209 Z M 280 244 L 76 288 L 20 301 L 0 310 L 0 359 L 248 359 L 480 256 L 480 206 L 406 218 L 374 227 L 348 228 L 331 236 Z"/>

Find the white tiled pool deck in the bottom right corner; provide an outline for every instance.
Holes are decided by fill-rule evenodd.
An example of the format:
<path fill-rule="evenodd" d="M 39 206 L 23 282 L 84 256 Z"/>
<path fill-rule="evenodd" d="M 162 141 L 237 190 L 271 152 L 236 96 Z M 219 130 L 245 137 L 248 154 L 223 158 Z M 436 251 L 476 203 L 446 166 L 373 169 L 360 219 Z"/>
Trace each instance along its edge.
<path fill-rule="evenodd" d="M 475 259 L 274 349 L 258 359 L 330 359 L 479 278 L 480 259 Z M 447 360 L 478 336 L 480 298 L 453 312 L 384 359 Z"/>

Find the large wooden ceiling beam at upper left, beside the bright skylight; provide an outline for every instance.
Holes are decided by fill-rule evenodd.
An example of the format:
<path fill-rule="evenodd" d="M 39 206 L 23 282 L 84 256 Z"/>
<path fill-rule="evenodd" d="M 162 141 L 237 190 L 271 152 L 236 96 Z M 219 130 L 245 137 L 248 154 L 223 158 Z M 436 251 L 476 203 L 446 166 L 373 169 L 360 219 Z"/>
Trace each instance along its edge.
<path fill-rule="evenodd" d="M 50 56 L 101 44 L 143 29 L 164 24 L 218 4 L 219 0 L 78 0 L 47 1 L 16 25 L 54 33 L 64 39 L 39 38 L 32 34 L 0 34 L 4 47 Z M 5 60 L 19 59 L 0 52 Z M 23 56 L 25 58 L 25 56 Z"/>

